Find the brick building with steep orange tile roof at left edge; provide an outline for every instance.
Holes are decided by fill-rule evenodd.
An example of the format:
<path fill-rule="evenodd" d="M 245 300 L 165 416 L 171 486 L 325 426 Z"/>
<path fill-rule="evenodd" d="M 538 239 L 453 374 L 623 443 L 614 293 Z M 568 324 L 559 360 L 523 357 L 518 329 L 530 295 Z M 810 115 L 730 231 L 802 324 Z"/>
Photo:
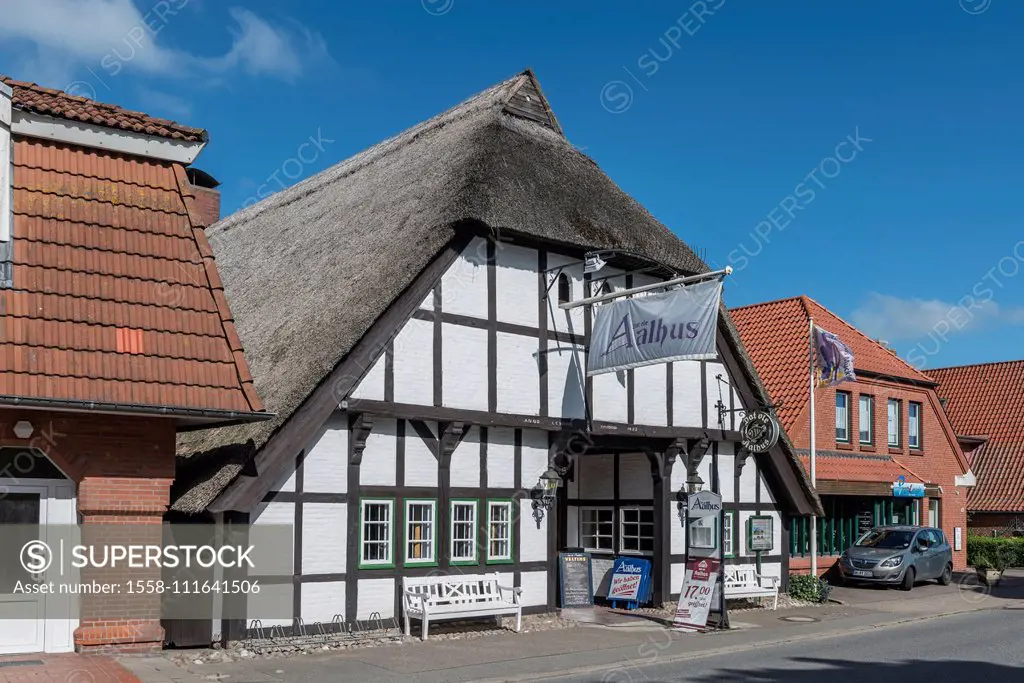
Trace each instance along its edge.
<path fill-rule="evenodd" d="M 268 417 L 185 170 L 206 142 L 0 77 L 0 522 L 159 539 L 176 433 Z M 163 643 L 159 595 L 117 611 L 13 593 L 0 654 Z"/>

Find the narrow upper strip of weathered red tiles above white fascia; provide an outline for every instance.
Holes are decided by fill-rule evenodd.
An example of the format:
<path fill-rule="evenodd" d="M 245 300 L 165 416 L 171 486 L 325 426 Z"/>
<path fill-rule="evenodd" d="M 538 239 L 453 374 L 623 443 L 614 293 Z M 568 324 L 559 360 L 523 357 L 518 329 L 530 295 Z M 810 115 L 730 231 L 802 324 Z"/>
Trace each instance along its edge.
<path fill-rule="evenodd" d="M 0 81 L 13 90 L 12 104 L 15 109 L 175 140 L 204 142 L 207 139 L 206 131 L 201 128 L 189 128 L 173 121 L 156 119 L 141 112 L 132 112 L 116 104 L 104 104 L 61 90 L 44 88 L 35 83 L 15 81 L 3 75 L 0 75 Z"/>

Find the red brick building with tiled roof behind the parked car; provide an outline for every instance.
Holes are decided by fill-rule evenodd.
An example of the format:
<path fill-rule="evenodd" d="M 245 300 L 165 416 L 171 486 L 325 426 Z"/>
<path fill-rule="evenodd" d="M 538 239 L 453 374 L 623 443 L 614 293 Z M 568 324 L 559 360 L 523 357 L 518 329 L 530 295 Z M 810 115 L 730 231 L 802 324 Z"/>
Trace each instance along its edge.
<path fill-rule="evenodd" d="M 825 510 L 818 520 L 819 570 L 882 523 L 940 526 L 954 546 L 954 568 L 964 568 L 974 475 L 935 380 L 808 297 L 743 306 L 732 315 L 808 469 L 810 321 L 853 349 L 857 380 L 815 390 L 816 489 Z M 901 477 L 924 484 L 924 496 L 895 498 L 893 483 Z M 791 522 L 792 569 L 810 568 L 809 521 Z"/>

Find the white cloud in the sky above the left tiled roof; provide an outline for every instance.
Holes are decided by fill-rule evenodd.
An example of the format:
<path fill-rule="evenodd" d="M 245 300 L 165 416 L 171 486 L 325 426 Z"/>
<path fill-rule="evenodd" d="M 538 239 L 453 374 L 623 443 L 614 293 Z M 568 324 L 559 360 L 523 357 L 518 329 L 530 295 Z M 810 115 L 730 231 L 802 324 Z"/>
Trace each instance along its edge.
<path fill-rule="evenodd" d="M 159 0 L 144 11 L 133 0 L 6 0 L 0 38 L 22 41 L 27 80 L 50 85 L 76 69 L 100 78 L 122 70 L 162 76 L 221 75 L 243 70 L 252 76 L 293 80 L 312 60 L 330 58 L 324 39 L 298 23 L 271 26 L 247 9 L 231 8 L 231 47 L 221 55 L 194 54 L 170 47 L 161 34 L 186 35 L 177 22 L 189 0 Z M 165 34 L 167 35 L 167 34 Z M 28 71 L 34 70 L 34 71 Z"/>

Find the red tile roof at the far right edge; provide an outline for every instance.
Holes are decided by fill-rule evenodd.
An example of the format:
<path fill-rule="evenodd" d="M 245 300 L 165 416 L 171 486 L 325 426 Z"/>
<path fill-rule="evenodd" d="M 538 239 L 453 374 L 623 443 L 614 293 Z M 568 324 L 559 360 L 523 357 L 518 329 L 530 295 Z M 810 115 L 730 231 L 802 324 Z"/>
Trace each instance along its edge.
<path fill-rule="evenodd" d="M 939 383 L 956 433 L 988 437 L 974 451 L 978 483 L 968 493 L 968 510 L 1024 512 L 1024 360 L 928 374 Z"/>

